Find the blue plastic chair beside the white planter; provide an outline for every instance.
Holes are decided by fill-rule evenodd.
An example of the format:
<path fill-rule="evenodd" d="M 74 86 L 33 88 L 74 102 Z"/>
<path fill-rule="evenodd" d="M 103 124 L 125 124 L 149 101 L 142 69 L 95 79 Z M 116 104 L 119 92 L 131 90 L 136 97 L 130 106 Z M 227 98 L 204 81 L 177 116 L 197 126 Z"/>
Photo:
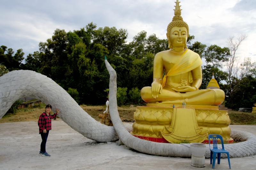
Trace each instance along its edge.
<path fill-rule="evenodd" d="M 210 139 L 212 139 L 212 144 L 213 144 L 212 149 L 211 149 Z M 220 139 L 220 141 L 221 141 L 222 149 L 218 149 L 218 139 Z M 217 154 L 217 157 L 218 157 L 218 164 L 220 164 L 220 154 L 221 153 L 226 153 L 227 154 L 229 169 L 231 169 L 230 160 L 229 160 L 229 153 L 228 153 L 228 151 L 226 151 L 224 149 L 222 136 L 217 135 L 217 134 L 210 134 L 210 135 L 208 135 L 208 140 L 209 140 L 210 151 L 211 151 L 210 163 L 212 164 L 212 169 L 214 169 L 214 166 L 215 166 L 216 154 Z"/>

